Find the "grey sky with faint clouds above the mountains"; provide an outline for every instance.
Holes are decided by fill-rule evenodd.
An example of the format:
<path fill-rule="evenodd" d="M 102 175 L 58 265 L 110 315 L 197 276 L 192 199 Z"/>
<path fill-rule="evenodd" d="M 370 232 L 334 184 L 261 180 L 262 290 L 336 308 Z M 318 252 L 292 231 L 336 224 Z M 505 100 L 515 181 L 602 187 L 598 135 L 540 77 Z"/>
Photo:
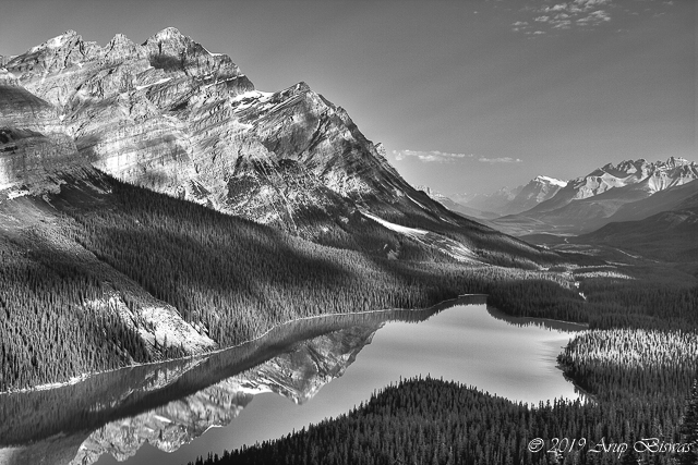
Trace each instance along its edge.
<path fill-rule="evenodd" d="M 698 160 L 695 0 L 2 0 L 0 54 L 177 27 L 260 90 L 303 81 L 413 185 L 490 193 Z"/>

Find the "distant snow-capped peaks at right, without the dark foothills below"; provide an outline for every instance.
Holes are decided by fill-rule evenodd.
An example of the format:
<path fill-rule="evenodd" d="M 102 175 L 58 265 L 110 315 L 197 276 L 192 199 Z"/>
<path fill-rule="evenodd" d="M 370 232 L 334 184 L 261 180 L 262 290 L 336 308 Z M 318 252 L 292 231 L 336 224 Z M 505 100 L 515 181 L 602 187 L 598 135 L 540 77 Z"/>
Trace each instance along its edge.
<path fill-rule="evenodd" d="M 521 236 L 541 232 L 578 234 L 614 221 L 640 220 L 673 208 L 695 192 L 691 183 L 698 180 L 698 164 L 674 157 L 655 162 L 639 159 L 609 163 L 564 185 L 544 184 L 542 179 L 517 188 L 516 196 L 500 203 L 501 217 L 491 219 L 490 224 Z M 502 199 L 502 192 L 488 200 Z M 486 204 L 474 199 L 466 205 L 472 208 Z"/>

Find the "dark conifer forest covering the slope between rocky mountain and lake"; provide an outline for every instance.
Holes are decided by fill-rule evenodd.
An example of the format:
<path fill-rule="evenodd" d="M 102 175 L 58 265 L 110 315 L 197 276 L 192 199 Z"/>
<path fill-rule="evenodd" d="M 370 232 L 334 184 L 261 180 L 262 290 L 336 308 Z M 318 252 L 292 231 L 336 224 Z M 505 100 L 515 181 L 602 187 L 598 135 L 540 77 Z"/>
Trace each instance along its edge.
<path fill-rule="evenodd" d="M 299 317 L 465 293 L 516 309 L 557 303 L 578 314 L 582 303 L 558 272 L 460 264 L 365 218 L 349 224 L 357 242 L 338 248 L 115 180 L 100 188 L 76 182 L 48 203 L 21 199 L 40 219 L 0 241 L 0 391 L 185 355 L 144 340 L 152 328 L 139 308 L 153 303 L 143 290 L 220 346 Z M 400 259 L 361 245 L 376 242 Z"/>

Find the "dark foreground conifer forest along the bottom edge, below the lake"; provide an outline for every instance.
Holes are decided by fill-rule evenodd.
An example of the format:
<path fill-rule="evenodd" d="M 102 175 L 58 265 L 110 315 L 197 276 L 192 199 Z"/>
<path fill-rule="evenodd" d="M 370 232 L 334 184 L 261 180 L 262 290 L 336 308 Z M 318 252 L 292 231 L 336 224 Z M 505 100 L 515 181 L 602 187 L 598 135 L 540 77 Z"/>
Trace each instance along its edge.
<path fill-rule="evenodd" d="M 695 463 L 696 415 L 698 388 L 678 427 L 658 404 L 555 401 L 532 407 L 420 377 L 386 387 L 337 418 L 190 465 Z"/>

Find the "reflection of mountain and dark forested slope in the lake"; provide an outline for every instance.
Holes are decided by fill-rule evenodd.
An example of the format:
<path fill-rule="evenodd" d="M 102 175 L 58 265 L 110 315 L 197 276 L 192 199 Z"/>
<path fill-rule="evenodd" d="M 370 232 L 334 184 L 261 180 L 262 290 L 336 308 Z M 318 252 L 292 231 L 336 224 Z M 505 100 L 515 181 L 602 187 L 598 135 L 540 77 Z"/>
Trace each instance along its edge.
<path fill-rule="evenodd" d="M 255 394 L 303 403 L 340 377 L 387 321 L 423 321 L 464 296 L 423 310 L 292 321 L 215 354 L 96 375 L 76 384 L 0 395 L 0 464 L 123 461 L 149 444 L 171 452 L 228 425 Z"/>

